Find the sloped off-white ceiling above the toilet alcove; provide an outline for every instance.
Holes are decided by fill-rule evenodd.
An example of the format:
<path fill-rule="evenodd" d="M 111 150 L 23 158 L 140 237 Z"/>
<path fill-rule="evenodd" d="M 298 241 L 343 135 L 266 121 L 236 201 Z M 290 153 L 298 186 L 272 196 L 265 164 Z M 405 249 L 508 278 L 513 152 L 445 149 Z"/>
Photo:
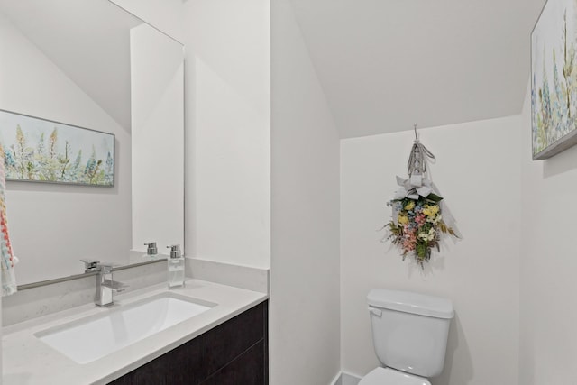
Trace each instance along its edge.
<path fill-rule="evenodd" d="M 545 0 L 292 0 L 343 138 L 521 112 Z"/>

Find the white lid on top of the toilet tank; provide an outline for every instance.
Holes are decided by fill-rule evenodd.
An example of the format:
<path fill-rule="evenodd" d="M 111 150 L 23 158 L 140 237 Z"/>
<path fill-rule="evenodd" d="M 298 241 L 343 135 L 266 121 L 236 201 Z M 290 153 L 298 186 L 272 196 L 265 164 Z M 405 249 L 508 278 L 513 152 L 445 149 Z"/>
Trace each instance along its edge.
<path fill-rule="evenodd" d="M 436 318 L 450 319 L 454 316 L 453 303 L 449 299 L 409 291 L 371 289 L 367 300 L 371 307 Z"/>

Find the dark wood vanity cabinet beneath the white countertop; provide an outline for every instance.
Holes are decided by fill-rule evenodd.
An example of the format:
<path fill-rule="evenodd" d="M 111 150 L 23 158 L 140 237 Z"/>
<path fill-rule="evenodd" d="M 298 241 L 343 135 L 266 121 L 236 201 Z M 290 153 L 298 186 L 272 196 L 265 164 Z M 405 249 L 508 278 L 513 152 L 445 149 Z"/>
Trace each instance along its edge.
<path fill-rule="evenodd" d="M 268 385 L 268 351 L 265 301 L 110 385 Z"/>

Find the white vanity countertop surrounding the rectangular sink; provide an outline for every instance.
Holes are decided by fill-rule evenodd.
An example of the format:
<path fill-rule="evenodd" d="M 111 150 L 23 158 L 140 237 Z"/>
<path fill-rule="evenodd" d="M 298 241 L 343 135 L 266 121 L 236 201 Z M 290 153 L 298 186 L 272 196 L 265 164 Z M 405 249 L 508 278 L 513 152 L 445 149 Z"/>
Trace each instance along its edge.
<path fill-rule="evenodd" d="M 166 284 L 161 284 L 117 295 L 114 298 L 116 303 L 114 307 L 166 291 L 168 291 Z M 268 298 L 266 294 L 260 292 L 203 280 L 187 280 L 185 288 L 170 291 L 200 302 L 212 302 L 217 305 L 205 313 L 87 364 L 70 360 L 41 342 L 34 334 L 79 318 L 103 314 L 114 307 L 102 308 L 88 304 L 4 327 L 3 385 L 106 384 Z M 95 338 L 98 336 L 95 335 Z"/>

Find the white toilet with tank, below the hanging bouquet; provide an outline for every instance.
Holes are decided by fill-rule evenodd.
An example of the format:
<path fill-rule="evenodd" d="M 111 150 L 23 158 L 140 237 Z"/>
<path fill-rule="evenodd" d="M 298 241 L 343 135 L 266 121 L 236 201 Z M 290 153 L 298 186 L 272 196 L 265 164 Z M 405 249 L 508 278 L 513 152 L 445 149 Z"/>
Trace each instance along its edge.
<path fill-rule="evenodd" d="M 431 385 L 443 371 L 453 303 L 446 298 L 389 289 L 367 296 L 379 367 L 359 385 Z"/>

